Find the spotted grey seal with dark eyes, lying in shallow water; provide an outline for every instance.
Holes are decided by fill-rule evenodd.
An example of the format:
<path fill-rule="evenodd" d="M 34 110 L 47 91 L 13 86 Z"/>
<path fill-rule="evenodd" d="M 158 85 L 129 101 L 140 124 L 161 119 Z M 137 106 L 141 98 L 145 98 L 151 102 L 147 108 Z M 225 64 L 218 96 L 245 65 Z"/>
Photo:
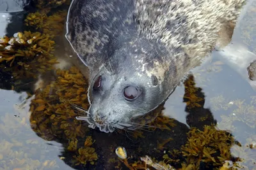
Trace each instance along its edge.
<path fill-rule="evenodd" d="M 90 108 L 77 119 L 102 132 L 136 129 L 134 118 L 164 103 L 193 67 L 229 43 L 225 30 L 234 29 L 244 3 L 73 0 L 65 37 L 90 69 Z"/>

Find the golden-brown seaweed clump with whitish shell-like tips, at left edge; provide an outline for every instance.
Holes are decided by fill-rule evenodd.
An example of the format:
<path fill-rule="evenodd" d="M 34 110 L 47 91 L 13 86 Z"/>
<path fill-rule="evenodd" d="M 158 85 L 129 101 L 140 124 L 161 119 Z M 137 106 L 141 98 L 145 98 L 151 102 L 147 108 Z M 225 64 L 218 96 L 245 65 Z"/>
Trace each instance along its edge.
<path fill-rule="evenodd" d="M 0 70 L 13 78 L 36 78 L 38 73 L 53 69 L 57 63 L 53 55 L 54 41 L 49 34 L 24 31 L 12 38 L 0 39 Z"/>

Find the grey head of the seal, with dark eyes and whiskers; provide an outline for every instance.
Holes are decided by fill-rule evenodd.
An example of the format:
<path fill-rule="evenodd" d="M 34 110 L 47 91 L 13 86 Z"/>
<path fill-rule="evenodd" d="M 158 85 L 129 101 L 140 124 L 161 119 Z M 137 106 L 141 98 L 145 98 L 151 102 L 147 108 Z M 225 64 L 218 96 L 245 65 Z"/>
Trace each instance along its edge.
<path fill-rule="evenodd" d="M 170 85 L 164 85 L 164 76 L 168 73 L 159 56 L 164 57 L 167 52 L 157 49 L 159 45 L 135 37 L 119 41 L 120 48 L 109 62 L 106 61 L 111 64 L 99 68 L 89 89 L 89 122 L 93 122 L 91 127 L 96 125 L 104 132 L 135 128 L 132 118 L 163 103 L 169 94 L 165 87 L 172 85 L 172 81 L 169 81 Z M 175 69 L 168 72 L 175 75 Z"/>

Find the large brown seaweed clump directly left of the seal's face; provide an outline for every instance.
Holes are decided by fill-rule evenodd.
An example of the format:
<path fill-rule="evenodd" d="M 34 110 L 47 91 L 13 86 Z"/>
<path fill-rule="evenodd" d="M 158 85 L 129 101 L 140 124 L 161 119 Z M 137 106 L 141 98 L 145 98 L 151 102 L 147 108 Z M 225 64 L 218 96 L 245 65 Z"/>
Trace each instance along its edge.
<path fill-rule="evenodd" d="M 68 70 L 58 69 L 56 74 L 56 81 L 35 92 L 30 108 L 31 127 L 48 140 L 83 137 L 88 128 L 76 119 L 79 113 L 73 106 L 88 109 L 86 79 L 74 66 Z"/>

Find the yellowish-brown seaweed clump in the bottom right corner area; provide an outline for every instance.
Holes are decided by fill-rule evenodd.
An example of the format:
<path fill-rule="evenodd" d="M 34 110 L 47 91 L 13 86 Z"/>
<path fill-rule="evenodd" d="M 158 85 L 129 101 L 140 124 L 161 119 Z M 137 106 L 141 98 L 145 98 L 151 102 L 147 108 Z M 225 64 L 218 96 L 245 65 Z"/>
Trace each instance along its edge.
<path fill-rule="evenodd" d="M 234 138 L 227 131 L 218 131 L 213 125 L 205 125 L 204 131 L 191 128 L 188 141 L 181 150 L 187 164 L 199 167 L 204 162 L 207 167 L 220 167 L 225 160 L 235 160 L 230 153 L 234 143 Z"/>

